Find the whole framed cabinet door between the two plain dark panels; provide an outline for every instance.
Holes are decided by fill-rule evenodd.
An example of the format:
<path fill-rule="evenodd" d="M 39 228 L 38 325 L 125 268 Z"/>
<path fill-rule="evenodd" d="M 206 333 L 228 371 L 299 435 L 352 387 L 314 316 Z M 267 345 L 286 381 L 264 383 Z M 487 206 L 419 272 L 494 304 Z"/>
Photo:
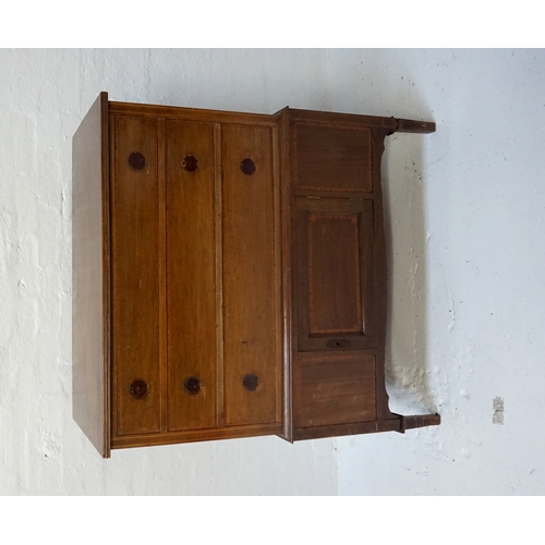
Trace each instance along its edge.
<path fill-rule="evenodd" d="M 298 349 L 374 347 L 372 201 L 298 197 L 295 204 Z"/>

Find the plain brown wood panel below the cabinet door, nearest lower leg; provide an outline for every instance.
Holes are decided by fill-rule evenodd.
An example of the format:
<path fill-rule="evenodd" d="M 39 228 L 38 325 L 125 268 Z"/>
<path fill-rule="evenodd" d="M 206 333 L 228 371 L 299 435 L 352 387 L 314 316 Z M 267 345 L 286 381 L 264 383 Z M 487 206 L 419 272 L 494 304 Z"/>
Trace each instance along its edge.
<path fill-rule="evenodd" d="M 299 428 L 376 419 L 373 354 L 300 355 L 294 379 L 295 426 Z"/>

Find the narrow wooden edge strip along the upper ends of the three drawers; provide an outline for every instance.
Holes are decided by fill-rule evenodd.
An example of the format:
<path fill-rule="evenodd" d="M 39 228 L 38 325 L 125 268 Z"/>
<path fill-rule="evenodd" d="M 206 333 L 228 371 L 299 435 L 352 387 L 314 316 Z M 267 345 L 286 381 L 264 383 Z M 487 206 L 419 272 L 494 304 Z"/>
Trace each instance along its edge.
<path fill-rule="evenodd" d="M 278 118 L 266 113 L 246 113 L 225 110 L 208 110 L 203 108 L 185 108 L 182 106 L 162 106 L 135 102 L 108 102 L 111 113 L 162 116 L 167 118 L 183 118 L 197 121 L 258 124 L 278 126 Z"/>

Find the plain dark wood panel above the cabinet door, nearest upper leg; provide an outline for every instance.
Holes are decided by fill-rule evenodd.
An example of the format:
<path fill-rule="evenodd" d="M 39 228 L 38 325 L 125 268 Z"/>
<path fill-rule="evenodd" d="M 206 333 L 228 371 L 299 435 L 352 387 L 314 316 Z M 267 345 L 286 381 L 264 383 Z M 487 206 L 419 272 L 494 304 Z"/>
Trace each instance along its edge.
<path fill-rule="evenodd" d="M 372 192 L 371 138 L 368 128 L 294 123 L 295 190 Z"/>

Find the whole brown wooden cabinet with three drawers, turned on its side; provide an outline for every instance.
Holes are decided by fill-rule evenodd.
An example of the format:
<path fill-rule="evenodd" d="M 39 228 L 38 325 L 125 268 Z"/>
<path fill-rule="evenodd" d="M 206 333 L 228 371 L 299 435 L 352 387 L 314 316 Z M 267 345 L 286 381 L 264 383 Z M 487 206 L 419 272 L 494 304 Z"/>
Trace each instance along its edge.
<path fill-rule="evenodd" d="M 101 94 L 74 135 L 73 197 L 74 419 L 100 453 L 438 424 L 391 413 L 384 373 L 383 141 L 433 130 Z"/>

